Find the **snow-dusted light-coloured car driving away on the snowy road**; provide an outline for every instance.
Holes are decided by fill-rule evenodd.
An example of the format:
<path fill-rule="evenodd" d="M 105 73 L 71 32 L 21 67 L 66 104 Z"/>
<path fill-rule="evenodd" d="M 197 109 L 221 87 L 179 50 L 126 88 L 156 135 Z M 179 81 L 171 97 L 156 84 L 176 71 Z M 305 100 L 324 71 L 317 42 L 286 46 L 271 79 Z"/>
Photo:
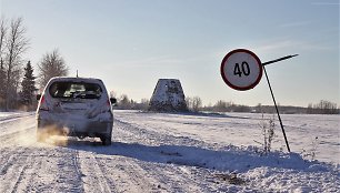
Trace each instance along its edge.
<path fill-rule="evenodd" d="M 37 141 L 49 135 L 100 138 L 111 144 L 112 103 L 103 82 L 90 78 L 52 78 L 38 94 Z"/>

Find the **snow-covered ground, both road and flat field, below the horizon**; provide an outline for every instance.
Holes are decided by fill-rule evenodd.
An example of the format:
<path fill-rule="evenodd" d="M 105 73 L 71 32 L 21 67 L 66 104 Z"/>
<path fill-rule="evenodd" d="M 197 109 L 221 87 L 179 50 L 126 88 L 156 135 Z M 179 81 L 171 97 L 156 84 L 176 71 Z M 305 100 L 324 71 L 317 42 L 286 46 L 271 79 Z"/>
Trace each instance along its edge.
<path fill-rule="evenodd" d="M 261 114 L 114 111 L 113 143 L 101 146 L 38 143 L 34 113 L 0 112 L 0 192 L 340 192 L 340 116 L 282 121 L 292 153 L 276 121 L 261 155 Z"/>

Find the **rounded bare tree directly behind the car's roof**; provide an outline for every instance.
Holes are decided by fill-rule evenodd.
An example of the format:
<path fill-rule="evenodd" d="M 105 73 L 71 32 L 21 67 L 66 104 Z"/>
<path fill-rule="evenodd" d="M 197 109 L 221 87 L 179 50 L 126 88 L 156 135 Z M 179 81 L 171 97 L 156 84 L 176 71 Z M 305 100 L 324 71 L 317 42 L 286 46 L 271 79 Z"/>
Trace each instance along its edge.
<path fill-rule="evenodd" d="M 42 57 L 40 63 L 38 63 L 38 71 L 40 89 L 43 89 L 51 78 L 64 77 L 69 73 L 69 69 L 58 49 L 54 49 L 51 53 L 46 53 Z"/>

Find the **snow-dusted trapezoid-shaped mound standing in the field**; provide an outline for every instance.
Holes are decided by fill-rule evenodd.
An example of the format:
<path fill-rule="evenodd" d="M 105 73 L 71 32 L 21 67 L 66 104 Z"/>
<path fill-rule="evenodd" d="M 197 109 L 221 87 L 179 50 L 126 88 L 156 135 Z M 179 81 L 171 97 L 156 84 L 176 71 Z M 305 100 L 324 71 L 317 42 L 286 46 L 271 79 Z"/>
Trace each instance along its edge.
<path fill-rule="evenodd" d="M 159 79 L 150 99 L 149 111 L 188 111 L 181 82 L 177 79 Z"/>

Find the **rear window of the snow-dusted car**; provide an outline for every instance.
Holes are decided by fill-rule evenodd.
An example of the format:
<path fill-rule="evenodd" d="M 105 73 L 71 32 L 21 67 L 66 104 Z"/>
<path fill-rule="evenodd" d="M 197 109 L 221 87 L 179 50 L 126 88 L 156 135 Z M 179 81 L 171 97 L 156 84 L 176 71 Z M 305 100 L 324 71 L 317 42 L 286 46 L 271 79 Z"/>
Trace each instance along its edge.
<path fill-rule="evenodd" d="M 99 99 L 102 90 L 96 83 L 53 82 L 49 92 L 52 98 Z"/>

